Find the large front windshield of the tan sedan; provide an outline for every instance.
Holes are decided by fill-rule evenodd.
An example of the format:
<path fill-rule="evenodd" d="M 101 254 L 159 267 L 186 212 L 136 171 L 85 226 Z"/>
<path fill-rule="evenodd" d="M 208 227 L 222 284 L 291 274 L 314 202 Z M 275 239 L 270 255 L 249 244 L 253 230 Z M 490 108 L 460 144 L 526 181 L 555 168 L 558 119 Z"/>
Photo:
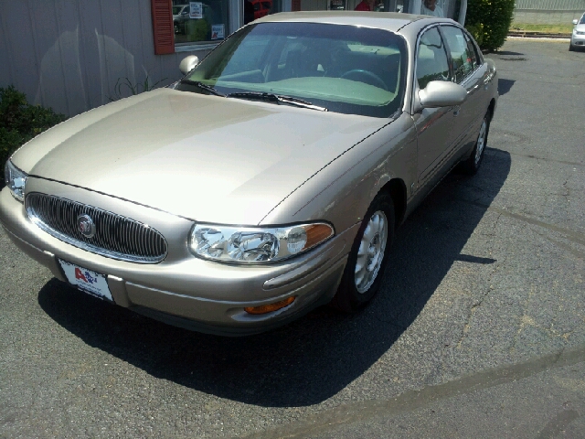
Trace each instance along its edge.
<path fill-rule="evenodd" d="M 402 103 L 405 44 L 391 32 L 317 23 L 244 27 L 213 50 L 177 90 L 271 93 L 330 112 L 388 117 Z M 238 95 L 243 99 L 242 95 Z"/>

